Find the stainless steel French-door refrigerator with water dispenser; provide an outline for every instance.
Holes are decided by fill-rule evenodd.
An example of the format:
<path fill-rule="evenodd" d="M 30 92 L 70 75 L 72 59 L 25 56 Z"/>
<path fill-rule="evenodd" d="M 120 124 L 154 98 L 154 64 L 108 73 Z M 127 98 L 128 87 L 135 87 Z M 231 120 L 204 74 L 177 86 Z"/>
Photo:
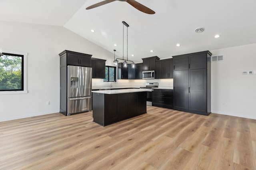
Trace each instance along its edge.
<path fill-rule="evenodd" d="M 92 110 L 92 68 L 68 65 L 67 115 Z"/>

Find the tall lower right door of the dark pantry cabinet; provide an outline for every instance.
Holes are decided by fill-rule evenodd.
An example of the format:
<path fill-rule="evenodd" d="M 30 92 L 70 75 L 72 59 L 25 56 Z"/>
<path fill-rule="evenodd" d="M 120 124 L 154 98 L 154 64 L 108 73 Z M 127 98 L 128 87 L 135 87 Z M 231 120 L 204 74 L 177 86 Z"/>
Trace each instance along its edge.
<path fill-rule="evenodd" d="M 188 109 L 192 112 L 207 113 L 206 69 L 192 69 L 189 75 Z"/>

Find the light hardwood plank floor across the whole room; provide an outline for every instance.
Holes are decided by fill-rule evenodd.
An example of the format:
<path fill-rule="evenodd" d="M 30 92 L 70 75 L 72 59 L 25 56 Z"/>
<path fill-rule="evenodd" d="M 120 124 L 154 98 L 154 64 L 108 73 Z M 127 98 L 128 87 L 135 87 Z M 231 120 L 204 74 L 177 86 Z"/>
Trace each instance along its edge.
<path fill-rule="evenodd" d="M 0 122 L 0 169 L 256 169 L 256 120 L 147 112 L 106 127 L 92 112 Z"/>

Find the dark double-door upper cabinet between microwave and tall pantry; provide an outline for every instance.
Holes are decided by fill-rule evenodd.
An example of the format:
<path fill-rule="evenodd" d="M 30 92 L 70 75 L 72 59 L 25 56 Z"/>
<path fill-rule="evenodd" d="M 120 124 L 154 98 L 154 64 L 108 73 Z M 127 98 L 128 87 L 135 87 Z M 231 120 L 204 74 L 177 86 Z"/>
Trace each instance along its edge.
<path fill-rule="evenodd" d="M 156 61 L 156 79 L 173 78 L 173 59 Z"/>

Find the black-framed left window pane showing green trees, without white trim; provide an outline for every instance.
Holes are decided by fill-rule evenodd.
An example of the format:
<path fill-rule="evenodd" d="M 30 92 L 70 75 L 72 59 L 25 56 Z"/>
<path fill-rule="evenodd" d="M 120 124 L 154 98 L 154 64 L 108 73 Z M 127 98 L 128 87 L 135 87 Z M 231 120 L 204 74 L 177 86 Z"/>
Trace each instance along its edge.
<path fill-rule="evenodd" d="M 24 55 L 3 53 L 0 56 L 0 91 L 23 90 Z"/>

